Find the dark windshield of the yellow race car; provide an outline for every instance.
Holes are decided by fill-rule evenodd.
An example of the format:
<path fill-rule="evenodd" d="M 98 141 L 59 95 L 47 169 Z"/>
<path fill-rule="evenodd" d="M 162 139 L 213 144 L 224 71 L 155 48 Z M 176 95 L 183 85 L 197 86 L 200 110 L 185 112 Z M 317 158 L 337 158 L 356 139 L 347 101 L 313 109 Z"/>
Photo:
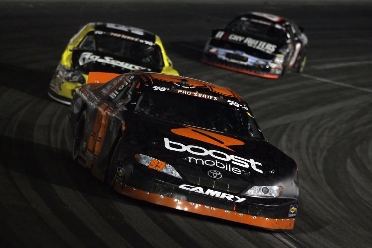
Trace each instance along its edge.
<path fill-rule="evenodd" d="M 162 53 L 158 45 L 150 46 L 109 35 L 87 35 L 79 48 L 123 57 L 144 67 L 163 66 Z"/>

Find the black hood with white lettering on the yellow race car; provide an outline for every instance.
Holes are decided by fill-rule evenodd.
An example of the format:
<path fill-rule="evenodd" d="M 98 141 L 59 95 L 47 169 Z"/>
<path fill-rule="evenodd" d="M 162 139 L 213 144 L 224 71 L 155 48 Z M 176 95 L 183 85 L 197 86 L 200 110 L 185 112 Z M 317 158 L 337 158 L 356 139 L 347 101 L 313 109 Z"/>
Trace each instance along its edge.
<path fill-rule="evenodd" d="M 130 58 L 123 58 L 98 51 L 75 50 L 72 64 L 85 74 L 89 72 L 109 72 L 123 74 L 134 70 L 161 72 L 161 68 L 148 67 Z"/>

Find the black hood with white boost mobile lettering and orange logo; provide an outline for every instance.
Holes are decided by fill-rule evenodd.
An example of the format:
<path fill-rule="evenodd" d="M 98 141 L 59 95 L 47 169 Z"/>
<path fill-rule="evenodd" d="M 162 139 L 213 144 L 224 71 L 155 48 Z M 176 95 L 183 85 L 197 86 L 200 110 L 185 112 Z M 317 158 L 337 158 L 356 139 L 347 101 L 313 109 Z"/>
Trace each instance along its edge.
<path fill-rule="evenodd" d="M 133 128 L 142 139 L 136 142 L 140 144 L 137 154 L 172 165 L 191 184 L 219 185 L 234 193 L 244 193 L 252 186 L 283 186 L 282 197 L 297 198 L 295 162 L 265 140 L 152 118 L 144 118 Z"/>

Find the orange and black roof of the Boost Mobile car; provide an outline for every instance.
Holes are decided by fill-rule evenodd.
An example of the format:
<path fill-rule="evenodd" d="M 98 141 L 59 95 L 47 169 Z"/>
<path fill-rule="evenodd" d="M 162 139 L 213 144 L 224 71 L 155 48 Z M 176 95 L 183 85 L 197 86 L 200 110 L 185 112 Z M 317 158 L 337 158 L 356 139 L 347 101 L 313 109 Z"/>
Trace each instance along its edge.
<path fill-rule="evenodd" d="M 144 83 L 149 83 L 158 87 L 171 87 L 184 91 L 207 94 L 218 98 L 230 99 L 236 102 L 242 102 L 243 99 L 230 88 L 221 87 L 205 81 L 162 73 L 141 72 Z"/>

